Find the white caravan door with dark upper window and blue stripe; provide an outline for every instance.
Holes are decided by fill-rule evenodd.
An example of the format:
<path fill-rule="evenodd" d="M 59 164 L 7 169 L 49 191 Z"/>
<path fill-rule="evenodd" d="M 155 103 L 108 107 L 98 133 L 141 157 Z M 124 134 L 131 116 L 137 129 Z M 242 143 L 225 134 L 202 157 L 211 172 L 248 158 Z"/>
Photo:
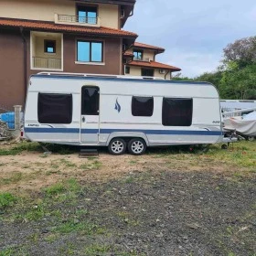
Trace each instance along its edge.
<path fill-rule="evenodd" d="M 81 89 L 80 144 L 99 143 L 100 89 L 83 86 Z"/>

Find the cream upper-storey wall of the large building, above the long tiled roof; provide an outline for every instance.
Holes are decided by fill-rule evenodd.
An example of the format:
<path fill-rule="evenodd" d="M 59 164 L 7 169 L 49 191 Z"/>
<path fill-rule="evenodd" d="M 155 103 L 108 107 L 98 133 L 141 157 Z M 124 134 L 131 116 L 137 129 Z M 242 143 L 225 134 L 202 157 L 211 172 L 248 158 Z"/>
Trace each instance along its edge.
<path fill-rule="evenodd" d="M 99 5 L 102 27 L 119 27 L 118 5 Z M 68 0 L 1 0 L 0 17 L 55 21 L 55 14 L 76 16 L 75 1 Z"/>

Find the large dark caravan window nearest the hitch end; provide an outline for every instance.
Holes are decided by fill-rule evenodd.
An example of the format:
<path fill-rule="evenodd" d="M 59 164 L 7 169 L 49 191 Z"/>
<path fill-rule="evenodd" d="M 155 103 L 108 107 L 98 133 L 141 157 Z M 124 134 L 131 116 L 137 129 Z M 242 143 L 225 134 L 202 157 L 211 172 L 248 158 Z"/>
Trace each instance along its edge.
<path fill-rule="evenodd" d="M 170 114 L 166 114 L 165 112 L 167 111 L 165 105 L 169 104 L 167 101 L 173 101 L 176 104 L 176 108 L 179 107 L 180 109 L 180 103 L 181 101 L 185 101 L 190 104 L 189 108 L 187 108 L 187 113 L 178 116 L 178 110 L 179 109 L 174 109 L 172 112 L 173 117 L 170 117 Z M 190 102 L 189 102 L 190 101 Z M 178 106 L 179 105 L 179 106 Z M 194 101 L 193 98 L 168 98 L 164 97 L 163 98 L 163 104 L 162 104 L 162 124 L 164 126 L 173 126 L 173 127 L 190 127 L 193 123 L 193 107 L 194 107 Z M 170 109 L 169 109 L 170 111 Z M 187 114 L 187 116 L 186 116 Z M 188 118 L 189 117 L 189 118 Z M 183 119 L 179 119 L 183 118 Z M 187 120 L 185 119 L 187 118 Z"/>

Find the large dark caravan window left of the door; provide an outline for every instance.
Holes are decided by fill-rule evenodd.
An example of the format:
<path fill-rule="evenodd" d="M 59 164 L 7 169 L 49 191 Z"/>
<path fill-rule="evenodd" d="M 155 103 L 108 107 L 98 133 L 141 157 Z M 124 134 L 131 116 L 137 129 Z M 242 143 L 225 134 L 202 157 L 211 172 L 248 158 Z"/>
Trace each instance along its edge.
<path fill-rule="evenodd" d="M 72 105 L 72 94 L 38 93 L 38 122 L 71 123 Z"/>

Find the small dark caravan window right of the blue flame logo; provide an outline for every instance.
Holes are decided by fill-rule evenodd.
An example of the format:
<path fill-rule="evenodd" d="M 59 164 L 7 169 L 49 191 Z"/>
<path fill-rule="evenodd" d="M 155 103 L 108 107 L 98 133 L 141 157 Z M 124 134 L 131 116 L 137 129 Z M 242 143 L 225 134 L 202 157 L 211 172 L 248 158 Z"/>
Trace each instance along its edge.
<path fill-rule="evenodd" d="M 147 104 L 148 102 L 141 102 L 140 100 L 149 100 L 151 102 L 151 106 L 149 107 Z M 142 104 L 146 103 L 145 109 L 142 109 Z M 154 114 L 154 97 L 144 97 L 144 96 L 133 96 L 132 98 L 132 115 L 133 116 L 139 116 L 139 117 L 151 117 Z"/>

